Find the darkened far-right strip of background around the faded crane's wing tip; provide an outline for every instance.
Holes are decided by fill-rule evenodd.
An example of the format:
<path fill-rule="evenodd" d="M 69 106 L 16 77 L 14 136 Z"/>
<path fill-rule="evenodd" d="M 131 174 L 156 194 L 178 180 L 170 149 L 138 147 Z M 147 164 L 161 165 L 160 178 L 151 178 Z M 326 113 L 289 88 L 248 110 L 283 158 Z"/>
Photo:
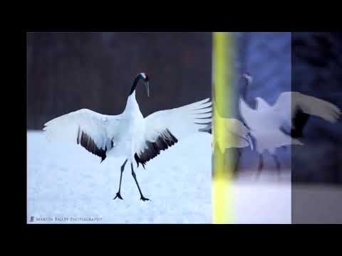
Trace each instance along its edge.
<path fill-rule="evenodd" d="M 342 33 L 292 33 L 292 90 L 342 109 Z M 292 148 L 292 223 L 342 223 L 342 120 L 310 118 Z"/>

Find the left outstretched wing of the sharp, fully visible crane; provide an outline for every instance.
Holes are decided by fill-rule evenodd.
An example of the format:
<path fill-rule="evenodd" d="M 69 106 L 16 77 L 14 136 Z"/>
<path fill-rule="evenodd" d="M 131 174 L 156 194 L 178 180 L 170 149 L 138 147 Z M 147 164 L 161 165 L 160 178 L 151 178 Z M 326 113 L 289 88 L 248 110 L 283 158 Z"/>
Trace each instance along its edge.
<path fill-rule="evenodd" d="M 113 138 L 120 123 L 120 115 L 109 116 L 92 110 L 78 110 L 56 117 L 44 124 L 43 130 L 49 140 L 76 142 L 90 153 L 100 156 L 113 147 Z"/>

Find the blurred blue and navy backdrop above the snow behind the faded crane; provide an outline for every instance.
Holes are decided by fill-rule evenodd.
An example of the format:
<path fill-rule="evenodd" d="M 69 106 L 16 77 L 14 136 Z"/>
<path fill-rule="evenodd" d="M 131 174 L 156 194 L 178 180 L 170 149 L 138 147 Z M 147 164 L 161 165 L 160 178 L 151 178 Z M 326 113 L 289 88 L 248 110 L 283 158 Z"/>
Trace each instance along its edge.
<path fill-rule="evenodd" d="M 234 86 L 235 113 L 249 72 L 254 78 L 246 101 L 255 107 L 255 98 L 274 104 L 281 92 L 297 91 L 318 97 L 342 108 L 342 33 L 235 33 L 237 40 Z M 287 146 L 276 154 L 295 182 L 342 183 L 342 122 L 331 124 L 311 117 L 304 129 L 306 146 Z M 236 149 L 232 149 L 236 151 Z M 257 154 L 242 149 L 239 171 L 257 166 Z M 265 165 L 275 171 L 273 159 Z"/>

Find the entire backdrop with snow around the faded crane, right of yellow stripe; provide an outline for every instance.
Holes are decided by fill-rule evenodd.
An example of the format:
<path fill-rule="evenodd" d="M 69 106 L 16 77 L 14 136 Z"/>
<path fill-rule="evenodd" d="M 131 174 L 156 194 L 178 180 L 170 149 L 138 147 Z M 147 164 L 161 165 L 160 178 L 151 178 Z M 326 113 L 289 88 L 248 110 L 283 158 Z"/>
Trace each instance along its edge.
<path fill-rule="evenodd" d="M 284 91 L 302 92 L 333 103 L 342 109 L 342 33 L 341 32 L 241 32 L 234 33 L 237 52 L 234 84 L 234 110 L 244 92 L 249 72 L 254 78 L 246 101 L 255 107 L 255 97 L 273 104 Z M 242 223 L 342 223 L 342 122 L 331 124 L 310 117 L 301 138 L 304 146 L 286 146 L 276 151 L 281 172 L 288 174 L 275 182 L 276 169 L 271 157 L 264 157 L 264 180 L 244 183 L 237 188 Z M 231 149 L 237 154 L 237 149 Z M 257 154 L 241 150 L 238 176 L 255 173 Z M 229 153 L 228 153 L 229 154 Z M 274 175 L 273 175 L 274 176 Z M 283 185 L 284 186 L 283 186 Z M 273 188 L 273 190 L 272 190 Z M 291 209 L 291 218 L 288 209 Z M 261 210 L 262 209 L 262 210 Z M 250 214 L 245 211 L 249 210 Z M 266 214 L 268 212 L 268 214 Z M 276 217 L 275 217 L 276 216 Z"/>

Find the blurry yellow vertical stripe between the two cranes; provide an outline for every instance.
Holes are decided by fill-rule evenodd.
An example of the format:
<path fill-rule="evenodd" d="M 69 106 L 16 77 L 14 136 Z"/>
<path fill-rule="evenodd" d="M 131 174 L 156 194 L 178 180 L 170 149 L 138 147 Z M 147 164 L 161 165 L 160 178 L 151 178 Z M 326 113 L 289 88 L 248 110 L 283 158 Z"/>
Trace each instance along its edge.
<path fill-rule="evenodd" d="M 227 127 L 222 118 L 230 117 L 233 82 L 232 33 L 213 33 L 212 78 L 214 90 L 213 223 L 232 223 L 232 159 L 219 150 L 227 142 Z"/>

